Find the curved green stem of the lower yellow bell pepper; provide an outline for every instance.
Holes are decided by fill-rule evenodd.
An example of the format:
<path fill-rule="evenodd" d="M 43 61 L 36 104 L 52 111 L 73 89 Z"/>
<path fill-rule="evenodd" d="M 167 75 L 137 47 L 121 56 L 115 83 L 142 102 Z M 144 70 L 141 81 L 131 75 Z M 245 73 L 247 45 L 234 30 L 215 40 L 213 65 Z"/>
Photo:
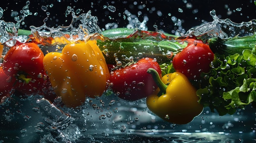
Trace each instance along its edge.
<path fill-rule="evenodd" d="M 155 83 L 160 88 L 160 92 L 159 93 L 161 93 L 161 94 L 162 93 L 166 93 L 167 85 L 165 85 L 163 83 L 163 81 L 161 80 L 161 78 L 160 78 L 159 74 L 157 73 L 157 71 L 154 68 L 148 68 L 147 73 L 150 73 L 153 76 L 153 79 L 154 79 Z"/>

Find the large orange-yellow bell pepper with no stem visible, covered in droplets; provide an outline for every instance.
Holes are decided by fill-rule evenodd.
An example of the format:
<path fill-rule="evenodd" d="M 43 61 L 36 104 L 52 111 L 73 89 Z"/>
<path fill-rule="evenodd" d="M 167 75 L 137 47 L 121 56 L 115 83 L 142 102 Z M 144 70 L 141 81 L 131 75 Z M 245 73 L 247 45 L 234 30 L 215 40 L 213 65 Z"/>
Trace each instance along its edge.
<path fill-rule="evenodd" d="M 110 78 L 95 40 L 67 44 L 62 53 L 46 54 L 43 64 L 56 95 L 67 107 L 80 106 L 86 97 L 101 96 Z"/>

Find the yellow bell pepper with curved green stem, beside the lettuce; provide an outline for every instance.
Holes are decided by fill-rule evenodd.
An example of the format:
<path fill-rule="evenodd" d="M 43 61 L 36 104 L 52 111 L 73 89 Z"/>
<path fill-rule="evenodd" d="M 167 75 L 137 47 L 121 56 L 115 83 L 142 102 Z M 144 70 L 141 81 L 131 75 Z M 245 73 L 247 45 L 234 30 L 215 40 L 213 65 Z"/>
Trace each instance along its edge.
<path fill-rule="evenodd" d="M 169 73 L 161 80 L 154 69 L 149 68 L 148 73 L 153 75 L 160 92 L 148 96 L 146 104 L 158 117 L 170 123 L 186 124 L 202 112 L 196 89 L 184 74 Z"/>

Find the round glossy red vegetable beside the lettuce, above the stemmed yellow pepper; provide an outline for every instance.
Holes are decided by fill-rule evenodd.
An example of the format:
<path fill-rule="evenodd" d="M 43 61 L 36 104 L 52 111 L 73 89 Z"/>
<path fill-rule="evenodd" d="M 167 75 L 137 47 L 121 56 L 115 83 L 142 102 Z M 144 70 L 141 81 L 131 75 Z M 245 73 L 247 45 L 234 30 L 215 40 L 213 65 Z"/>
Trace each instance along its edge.
<path fill-rule="evenodd" d="M 210 70 L 214 53 L 209 45 L 203 43 L 188 44 L 180 53 L 173 57 L 173 68 L 183 73 L 188 79 L 199 79 L 202 72 Z"/>

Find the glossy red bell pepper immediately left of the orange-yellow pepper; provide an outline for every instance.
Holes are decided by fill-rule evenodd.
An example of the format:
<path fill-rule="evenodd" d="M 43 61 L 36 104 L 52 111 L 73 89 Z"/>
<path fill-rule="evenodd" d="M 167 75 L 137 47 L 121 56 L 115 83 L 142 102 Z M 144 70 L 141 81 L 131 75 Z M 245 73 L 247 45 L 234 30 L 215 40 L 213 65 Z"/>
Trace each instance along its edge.
<path fill-rule="evenodd" d="M 43 78 L 45 70 L 43 67 L 44 54 L 37 44 L 25 43 L 17 44 L 9 49 L 4 57 L 3 70 L 7 76 L 11 77 L 15 90 L 23 94 L 40 93 L 45 86 Z M 17 79 L 18 74 L 31 78 L 28 84 Z M 42 75 L 38 77 L 38 75 Z"/>

